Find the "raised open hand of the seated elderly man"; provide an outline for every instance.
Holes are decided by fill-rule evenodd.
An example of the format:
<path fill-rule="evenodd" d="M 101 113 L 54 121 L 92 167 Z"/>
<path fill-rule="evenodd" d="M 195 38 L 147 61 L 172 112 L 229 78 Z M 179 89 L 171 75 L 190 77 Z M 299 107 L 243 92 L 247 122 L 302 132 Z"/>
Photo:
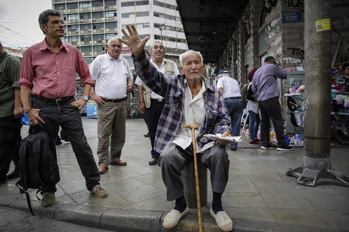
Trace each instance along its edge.
<path fill-rule="evenodd" d="M 137 29 L 133 24 L 131 24 L 131 27 L 126 24 L 126 29 L 129 35 L 124 29 L 121 29 L 121 32 L 124 34 L 127 40 L 123 40 L 121 38 L 118 38 L 118 40 L 123 44 L 126 44 L 133 52 L 135 57 L 141 56 L 144 53 L 144 47 L 146 46 L 146 42 L 148 41 L 149 36 L 145 37 L 144 39 L 139 38 Z"/>

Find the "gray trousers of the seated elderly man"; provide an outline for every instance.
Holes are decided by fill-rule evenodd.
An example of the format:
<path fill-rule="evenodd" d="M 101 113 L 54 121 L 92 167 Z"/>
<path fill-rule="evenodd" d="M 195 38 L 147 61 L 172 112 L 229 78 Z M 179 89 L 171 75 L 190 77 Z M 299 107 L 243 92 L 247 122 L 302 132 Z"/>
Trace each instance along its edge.
<path fill-rule="evenodd" d="M 214 145 L 204 153 L 196 154 L 198 163 L 210 170 L 212 191 L 223 193 L 228 183 L 229 159 L 224 146 Z M 169 142 L 161 153 L 158 165 L 161 167 L 161 176 L 166 186 L 168 201 L 183 196 L 184 187 L 180 180 L 181 171 L 186 163 L 194 161 L 193 146 L 185 150 L 173 142 Z"/>

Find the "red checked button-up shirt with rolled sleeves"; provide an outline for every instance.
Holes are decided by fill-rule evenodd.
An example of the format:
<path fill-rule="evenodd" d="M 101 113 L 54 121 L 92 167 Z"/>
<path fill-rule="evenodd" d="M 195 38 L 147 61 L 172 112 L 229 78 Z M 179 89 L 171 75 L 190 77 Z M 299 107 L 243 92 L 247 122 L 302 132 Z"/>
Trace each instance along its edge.
<path fill-rule="evenodd" d="M 61 41 L 57 52 L 53 52 L 45 38 L 25 51 L 19 84 L 45 98 L 64 98 L 76 93 L 76 73 L 82 86 L 86 83 L 95 86 L 88 65 L 76 47 Z"/>

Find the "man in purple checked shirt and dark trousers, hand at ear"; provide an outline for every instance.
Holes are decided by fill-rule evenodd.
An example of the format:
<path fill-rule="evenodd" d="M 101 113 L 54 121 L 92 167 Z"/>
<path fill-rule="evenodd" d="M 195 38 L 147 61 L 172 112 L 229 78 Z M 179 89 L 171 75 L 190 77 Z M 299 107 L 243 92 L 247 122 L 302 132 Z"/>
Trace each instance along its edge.
<path fill-rule="evenodd" d="M 252 80 L 252 91 L 257 96 L 261 112 L 261 148 L 274 149 L 276 147 L 269 142 L 269 118 L 271 118 L 277 139 L 277 150 L 293 150 L 293 147 L 288 146 L 285 142 L 276 78 L 286 79 L 287 73 L 275 62 L 273 56 L 268 56 L 262 67 L 255 71 Z"/>

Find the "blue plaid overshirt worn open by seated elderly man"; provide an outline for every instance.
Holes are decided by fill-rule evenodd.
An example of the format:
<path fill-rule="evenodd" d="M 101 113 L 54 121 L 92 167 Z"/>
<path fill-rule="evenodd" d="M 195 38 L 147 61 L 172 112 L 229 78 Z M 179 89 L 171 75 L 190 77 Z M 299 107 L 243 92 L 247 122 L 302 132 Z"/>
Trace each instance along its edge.
<path fill-rule="evenodd" d="M 151 64 L 145 52 L 137 58 L 132 53 L 132 59 L 136 74 L 146 86 L 166 99 L 157 127 L 154 146 L 154 150 L 162 153 L 166 144 L 174 138 L 179 126 L 181 126 L 180 122 L 183 116 L 182 108 L 185 98 L 185 76 L 164 76 Z M 232 134 L 232 130 L 223 95 L 217 87 L 209 84 L 205 77 L 202 76 L 201 78 L 205 83 L 206 90 L 204 94 L 206 116 L 203 119 L 200 133 L 196 137 L 196 142 L 200 147 L 203 147 L 203 145 L 211 141 L 203 137 L 204 134 L 223 133 L 224 131 L 229 131 Z"/>

